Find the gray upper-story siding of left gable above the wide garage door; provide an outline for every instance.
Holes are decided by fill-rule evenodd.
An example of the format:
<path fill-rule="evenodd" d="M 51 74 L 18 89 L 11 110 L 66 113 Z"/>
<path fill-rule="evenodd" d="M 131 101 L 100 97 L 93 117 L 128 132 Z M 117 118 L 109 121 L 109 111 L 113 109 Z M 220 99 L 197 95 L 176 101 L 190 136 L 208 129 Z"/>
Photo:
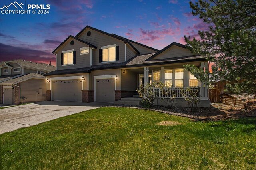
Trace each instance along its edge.
<path fill-rule="evenodd" d="M 70 42 L 74 40 L 70 38 L 69 41 L 64 43 L 63 47 L 58 49 L 57 51 L 57 70 L 64 70 L 64 69 L 76 69 L 82 67 L 90 67 L 90 52 L 89 54 L 80 55 L 80 48 L 88 47 L 87 44 L 74 40 L 74 45 L 70 45 Z M 76 64 L 74 65 L 60 65 L 60 57 L 62 51 L 72 50 L 76 51 Z M 94 49 L 95 50 L 95 49 Z M 89 49 L 90 51 L 90 49 Z"/>

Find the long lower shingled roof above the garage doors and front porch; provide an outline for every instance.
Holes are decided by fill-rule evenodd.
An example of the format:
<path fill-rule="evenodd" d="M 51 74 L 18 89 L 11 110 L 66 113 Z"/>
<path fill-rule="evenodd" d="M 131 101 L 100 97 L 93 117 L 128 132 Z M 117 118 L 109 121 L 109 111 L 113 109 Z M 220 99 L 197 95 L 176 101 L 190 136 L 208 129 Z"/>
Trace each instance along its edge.
<path fill-rule="evenodd" d="M 155 53 L 145 54 L 145 55 L 137 55 L 132 59 L 124 62 L 124 63 L 112 63 L 112 64 L 104 64 L 104 65 L 94 65 L 92 67 L 85 68 L 77 68 L 77 69 L 65 69 L 65 70 L 55 70 L 49 73 L 44 74 L 48 75 L 63 75 L 63 74 L 72 74 L 72 73 L 90 73 L 93 70 L 103 70 L 103 69 L 116 69 L 116 68 L 127 68 L 127 67 L 146 67 L 150 65 L 164 65 L 164 64 L 172 64 L 172 63 L 186 63 L 193 61 L 205 61 L 206 58 L 201 55 L 192 55 L 185 57 L 175 57 L 164 60 L 151 60 L 147 61 L 149 57 L 154 55 Z"/>

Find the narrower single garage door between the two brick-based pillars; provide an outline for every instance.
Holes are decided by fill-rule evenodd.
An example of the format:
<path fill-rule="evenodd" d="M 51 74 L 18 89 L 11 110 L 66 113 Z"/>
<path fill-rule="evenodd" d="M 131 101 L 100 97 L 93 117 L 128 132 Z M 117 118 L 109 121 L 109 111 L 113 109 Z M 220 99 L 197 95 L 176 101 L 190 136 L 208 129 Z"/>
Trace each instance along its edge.
<path fill-rule="evenodd" d="M 96 101 L 115 101 L 115 81 L 114 79 L 96 79 Z"/>

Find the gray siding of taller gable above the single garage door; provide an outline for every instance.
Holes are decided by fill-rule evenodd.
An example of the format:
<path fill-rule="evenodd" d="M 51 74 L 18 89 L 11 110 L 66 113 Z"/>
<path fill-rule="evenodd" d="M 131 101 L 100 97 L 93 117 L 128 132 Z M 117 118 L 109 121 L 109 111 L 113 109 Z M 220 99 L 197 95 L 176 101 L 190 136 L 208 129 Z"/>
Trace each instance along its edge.
<path fill-rule="evenodd" d="M 91 35 L 88 37 L 86 35 L 86 33 L 90 31 Z M 79 37 L 81 40 L 84 40 L 88 43 L 91 43 L 93 45 L 95 45 L 97 47 L 97 49 L 95 50 L 95 53 L 93 55 L 93 60 L 92 60 L 92 64 L 93 65 L 102 65 L 102 64 L 108 64 L 108 63 L 100 63 L 99 62 L 99 49 L 101 49 L 101 47 L 106 46 L 106 45 L 114 45 L 116 44 L 117 46 L 119 46 L 119 61 L 116 61 L 116 63 L 122 63 L 124 62 L 124 42 L 121 40 L 118 40 L 116 38 L 112 38 L 110 36 L 107 36 L 105 34 L 102 34 L 100 32 L 91 30 L 91 29 L 86 29 L 84 34 L 82 34 L 82 36 Z"/>

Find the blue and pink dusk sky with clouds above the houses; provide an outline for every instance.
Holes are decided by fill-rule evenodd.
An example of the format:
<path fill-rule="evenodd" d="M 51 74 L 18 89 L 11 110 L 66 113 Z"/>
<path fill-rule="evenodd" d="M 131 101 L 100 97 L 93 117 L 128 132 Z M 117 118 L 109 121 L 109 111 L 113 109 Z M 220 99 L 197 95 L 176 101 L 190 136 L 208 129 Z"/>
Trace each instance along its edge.
<path fill-rule="evenodd" d="M 0 6 L 11 0 L 1 0 Z M 49 14 L 0 14 L 0 61 L 25 59 L 56 64 L 52 51 L 86 25 L 162 49 L 172 42 L 185 44 L 184 35 L 198 37 L 208 28 L 192 16 L 189 1 L 20 1 L 50 4 Z"/>

